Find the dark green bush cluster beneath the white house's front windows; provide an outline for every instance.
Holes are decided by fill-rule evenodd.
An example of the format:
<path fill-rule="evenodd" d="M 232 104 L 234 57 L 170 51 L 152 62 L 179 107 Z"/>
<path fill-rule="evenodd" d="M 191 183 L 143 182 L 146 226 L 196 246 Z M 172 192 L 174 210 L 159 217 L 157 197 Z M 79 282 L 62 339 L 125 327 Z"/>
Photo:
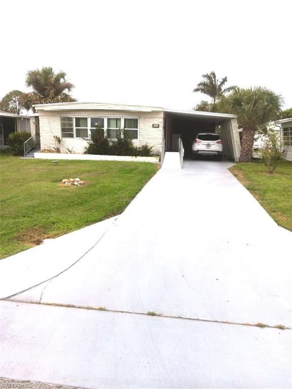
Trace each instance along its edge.
<path fill-rule="evenodd" d="M 124 136 L 122 136 L 124 135 Z M 125 136 L 121 131 L 121 136 L 111 140 L 104 136 L 103 129 L 96 128 L 91 132 L 91 139 L 85 148 L 85 154 L 99 155 L 129 155 L 134 157 L 149 157 L 153 146 L 144 144 L 136 147 L 131 138 Z"/>

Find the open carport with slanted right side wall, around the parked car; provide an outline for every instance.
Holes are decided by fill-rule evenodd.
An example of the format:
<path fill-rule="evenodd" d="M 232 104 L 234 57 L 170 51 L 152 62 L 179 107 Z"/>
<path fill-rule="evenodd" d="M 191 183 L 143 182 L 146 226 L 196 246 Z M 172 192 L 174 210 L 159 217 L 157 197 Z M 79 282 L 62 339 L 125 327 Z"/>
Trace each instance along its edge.
<path fill-rule="evenodd" d="M 178 139 L 185 149 L 185 158 L 189 158 L 192 141 L 200 132 L 220 131 L 223 141 L 223 153 L 231 161 L 239 161 L 240 140 L 236 115 L 215 112 L 179 111 L 164 109 L 165 151 L 179 151 Z"/>

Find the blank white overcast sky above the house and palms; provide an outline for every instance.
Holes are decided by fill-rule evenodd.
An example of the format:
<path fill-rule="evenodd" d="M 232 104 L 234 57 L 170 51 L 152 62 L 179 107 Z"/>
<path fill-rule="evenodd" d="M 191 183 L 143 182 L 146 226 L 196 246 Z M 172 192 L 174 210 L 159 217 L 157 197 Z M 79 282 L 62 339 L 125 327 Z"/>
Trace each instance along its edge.
<path fill-rule="evenodd" d="M 3 0 L 0 12 L 0 98 L 51 66 L 78 101 L 191 109 L 214 70 L 292 107 L 290 0 Z"/>

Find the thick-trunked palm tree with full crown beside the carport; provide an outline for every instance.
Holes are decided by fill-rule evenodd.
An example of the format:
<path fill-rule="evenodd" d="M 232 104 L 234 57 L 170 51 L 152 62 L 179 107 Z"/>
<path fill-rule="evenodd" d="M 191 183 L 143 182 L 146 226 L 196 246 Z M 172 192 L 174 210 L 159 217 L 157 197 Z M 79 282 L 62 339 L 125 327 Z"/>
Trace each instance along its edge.
<path fill-rule="evenodd" d="M 223 101 L 225 111 L 236 114 L 242 127 L 240 162 L 250 162 L 255 131 L 264 129 L 268 122 L 277 119 L 283 98 L 267 88 L 254 87 L 236 88 Z"/>

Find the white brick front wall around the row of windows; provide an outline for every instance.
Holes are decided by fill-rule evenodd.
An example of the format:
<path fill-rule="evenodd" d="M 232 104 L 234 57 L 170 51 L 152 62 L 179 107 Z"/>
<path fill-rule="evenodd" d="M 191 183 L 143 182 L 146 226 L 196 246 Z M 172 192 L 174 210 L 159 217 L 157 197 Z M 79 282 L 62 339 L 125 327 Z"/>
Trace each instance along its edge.
<path fill-rule="evenodd" d="M 137 146 L 148 144 L 154 146 L 154 153 L 161 152 L 163 140 L 163 112 L 139 112 L 139 111 L 114 111 L 114 110 L 40 110 L 40 138 L 41 149 L 55 147 L 54 135 L 61 137 L 61 116 L 74 116 L 81 118 L 82 116 L 94 117 L 100 116 L 103 118 L 138 118 L 139 129 L 138 139 L 134 139 L 133 143 Z M 159 128 L 153 128 L 153 124 L 159 124 Z M 66 147 L 73 148 L 76 153 L 83 153 L 84 147 L 87 146 L 85 139 L 78 138 L 63 138 L 61 143 L 61 151 L 65 152 Z"/>

